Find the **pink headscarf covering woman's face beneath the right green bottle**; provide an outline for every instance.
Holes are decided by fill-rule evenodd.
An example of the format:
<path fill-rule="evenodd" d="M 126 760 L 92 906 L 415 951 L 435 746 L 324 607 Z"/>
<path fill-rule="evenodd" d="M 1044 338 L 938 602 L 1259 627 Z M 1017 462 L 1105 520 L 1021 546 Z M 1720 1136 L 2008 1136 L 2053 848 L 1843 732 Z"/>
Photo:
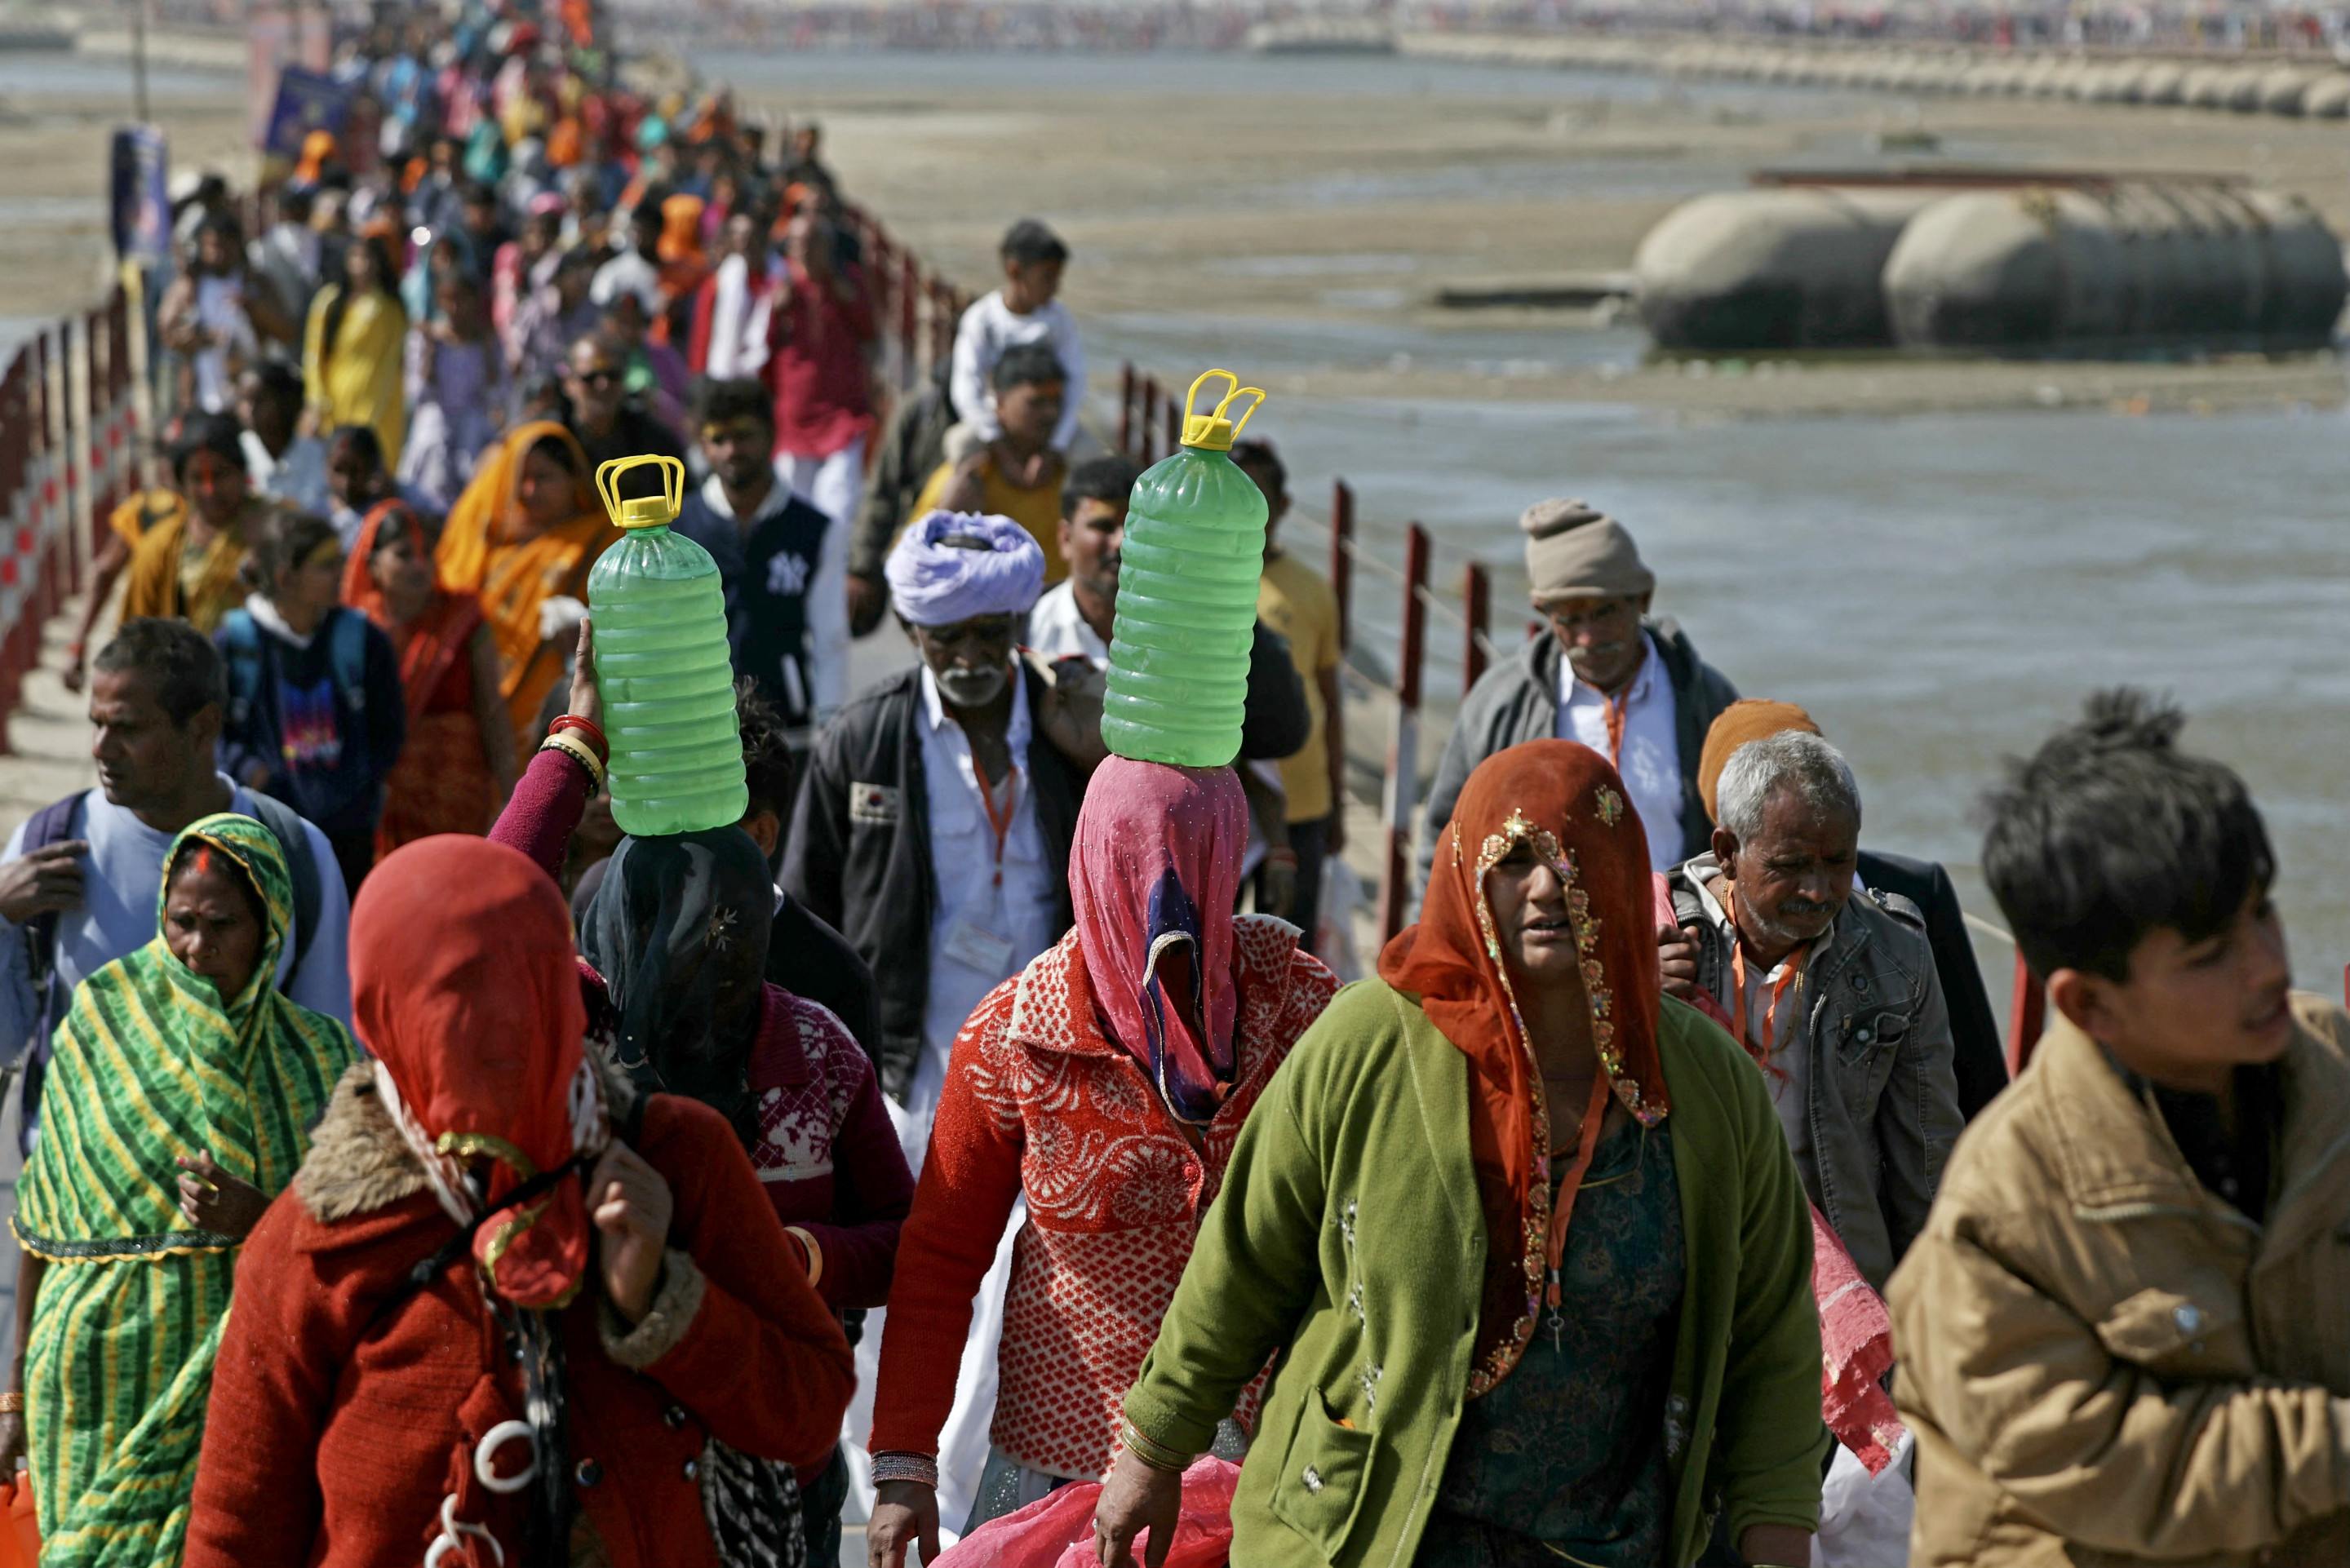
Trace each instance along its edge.
<path fill-rule="evenodd" d="M 1112 757 L 1086 785 L 1069 903 L 1095 1006 L 1177 1119 L 1206 1124 L 1231 1088 L 1238 987 L 1231 903 L 1248 799 L 1231 769 Z M 1191 990 L 1196 1037 L 1168 987 Z"/>

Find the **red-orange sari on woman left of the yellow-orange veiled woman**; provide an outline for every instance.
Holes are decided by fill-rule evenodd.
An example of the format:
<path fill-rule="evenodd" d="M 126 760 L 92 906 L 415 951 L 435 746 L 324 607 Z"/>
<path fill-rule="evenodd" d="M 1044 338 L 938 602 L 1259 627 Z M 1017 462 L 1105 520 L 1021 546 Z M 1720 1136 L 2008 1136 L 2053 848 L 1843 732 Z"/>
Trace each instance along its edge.
<path fill-rule="evenodd" d="M 400 658 L 400 691 L 409 726 L 400 762 L 383 790 L 376 825 L 376 858 L 435 832 L 489 832 L 498 809 L 482 722 L 472 710 L 472 632 L 482 625 L 482 602 L 470 592 L 435 588 L 432 602 L 414 621 L 392 621 L 390 604 L 367 571 L 385 512 L 407 510 L 385 501 L 367 515 L 357 548 L 343 567 L 343 602 L 362 611 L 392 639 Z"/>

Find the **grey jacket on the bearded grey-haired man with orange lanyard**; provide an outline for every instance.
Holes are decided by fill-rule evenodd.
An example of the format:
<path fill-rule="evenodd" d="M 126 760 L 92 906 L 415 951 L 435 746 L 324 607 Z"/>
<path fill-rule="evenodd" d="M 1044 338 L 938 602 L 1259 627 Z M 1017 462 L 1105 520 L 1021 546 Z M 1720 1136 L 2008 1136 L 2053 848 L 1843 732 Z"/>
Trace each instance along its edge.
<path fill-rule="evenodd" d="M 1713 856 L 1673 867 L 1673 914 L 1697 938 L 1697 983 L 1727 1013 L 1730 943 L 1697 896 Z M 1692 877 L 1697 872 L 1697 877 Z M 1805 1192 L 1878 1291 L 1925 1229 L 1958 1112 L 1950 1013 L 1934 978 L 1925 917 L 1908 898 L 1871 889 L 1835 917 L 1824 950 L 1805 964 L 1810 1154 L 1795 1171 Z"/>

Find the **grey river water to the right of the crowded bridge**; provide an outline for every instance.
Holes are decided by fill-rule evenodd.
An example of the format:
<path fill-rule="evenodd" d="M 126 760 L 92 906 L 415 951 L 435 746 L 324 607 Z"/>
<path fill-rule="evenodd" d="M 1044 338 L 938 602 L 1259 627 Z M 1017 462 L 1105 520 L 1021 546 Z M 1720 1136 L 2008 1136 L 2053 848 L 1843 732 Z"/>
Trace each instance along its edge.
<path fill-rule="evenodd" d="M 717 66 L 717 61 L 710 61 Z M 1034 85 L 1100 92 L 1462 94 L 1525 99 L 1690 94 L 1737 113 L 1819 113 L 1821 94 L 1666 87 L 1647 78 L 1431 66 L 1401 59 L 1227 56 L 792 56 L 724 66 L 745 87 L 902 89 Z M 1560 165 L 1574 169 L 1574 165 Z M 1589 165 L 1586 165 L 1589 172 Z M 1480 169 L 1415 169 L 1445 188 Z M 1523 181 L 1518 165 L 1490 172 Z M 1622 179 L 1624 169 L 1600 172 Z M 1676 179 L 1671 169 L 1659 179 Z M 1396 179 L 1365 167 L 1361 186 Z M 1133 200 L 1126 190 L 1109 200 Z M 1323 181 L 1292 202 L 1344 202 Z M 1234 289 L 1281 256 L 1234 256 Z M 1424 287 L 1410 226 L 1365 254 L 1349 287 Z M 1516 517 L 1549 494 L 1586 496 L 1638 534 L 1676 616 L 1748 696 L 1807 705 L 1866 795 L 1866 842 L 1950 863 L 1969 910 L 1995 917 L 1974 858 L 1976 802 L 2002 759 L 2077 712 L 2087 691 L 2176 696 L 2188 743 L 2251 783 L 2277 839 L 2280 903 L 2298 983 L 2341 994 L 2350 961 L 2350 578 L 2343 548 L 2350 418 L 2334 411 L 2113 416 L 2103 411 L 1704 423 L 1603 404 L 1405 400 L 1415 367 L 1631 364 L 1640 334 L 1431 331 L 1377 322 L 1180 313 L 1086 320 L 1088 357 L 1173 371 L 1236 362 L 1396 367 L 1398 397 L 1281 397 L 1264 425 L 1318 512 L 1330 475 L 1361 496 L 1363 538 L 1401 557 L 1429 524 L 1438 583 L 1464 559 L 1497 569 L 1502 642 L 1523 604 Z M 1302 531 L 1302 548 L 1314 548 Z M 1356 576 L 1361 632 L 1391 646 L 1398 595 Z M 1431 630 L 1431 691 L 1450 691 L 1459 635 Z M 2331 891 L 2329 891 L 2331 889 Z M 2007 957 L 1983 947 L 2005 999 Z"/>

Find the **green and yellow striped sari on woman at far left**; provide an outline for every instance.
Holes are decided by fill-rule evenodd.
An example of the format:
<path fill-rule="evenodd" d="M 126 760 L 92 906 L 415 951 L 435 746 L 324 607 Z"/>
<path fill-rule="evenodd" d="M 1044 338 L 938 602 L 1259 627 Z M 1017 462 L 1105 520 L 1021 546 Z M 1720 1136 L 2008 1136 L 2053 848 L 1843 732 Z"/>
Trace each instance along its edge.
<path fill-rule="evenodd" d="M 56 1027 L 16 1239 L 49 1262 L 26 1335 L 26 1422 L 47 1568 L 172 1568 L 188 1528 L 237 1239 L 190 1232 L 181 1154 L 275 1197 L 352 1060 L 350 1034 L 275 985 L 294 889 L 268 827 L 207 816 L 193 844 L 261 893 L 254 978 L 221 1006 L 157 936 L 82 980 Z M 160 898 L 160 896 L 157 896 Z"/>

